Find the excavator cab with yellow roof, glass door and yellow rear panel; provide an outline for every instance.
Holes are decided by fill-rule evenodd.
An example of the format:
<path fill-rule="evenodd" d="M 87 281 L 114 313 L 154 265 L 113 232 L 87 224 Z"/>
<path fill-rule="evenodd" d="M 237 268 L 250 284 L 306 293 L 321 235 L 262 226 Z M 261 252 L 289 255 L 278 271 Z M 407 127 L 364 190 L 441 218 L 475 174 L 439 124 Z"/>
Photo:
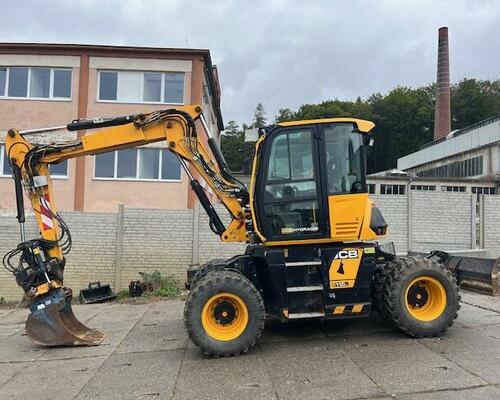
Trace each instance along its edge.
<path fill-rule="evenodd" d="M 324 119 L 283 123 L 266 133 L 258 146 L 254 208 L 267 244 L 385 234 L 381 215 L 375 229 L 362 229 L 378 211 L 365 174 L 372 127 L 362 120 Z"/>

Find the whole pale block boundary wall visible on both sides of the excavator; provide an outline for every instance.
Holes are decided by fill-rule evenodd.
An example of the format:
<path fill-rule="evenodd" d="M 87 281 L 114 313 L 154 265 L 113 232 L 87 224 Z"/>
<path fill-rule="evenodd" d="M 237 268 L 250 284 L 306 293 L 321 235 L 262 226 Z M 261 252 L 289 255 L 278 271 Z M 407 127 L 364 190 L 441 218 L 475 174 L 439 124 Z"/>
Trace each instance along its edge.
<path fill-rule="evenodd" d="M 484 236 L 484 249 L 500 256 L 500 196 L 484 196 L 476 215 L 475 197 L 467 193 L 416 193 L 410 197 L 374 195 L 373 200 L 389 224 L 384 240 L 396 250 L 416 251 L 475 249 L 476 221 Z M 216 206 L 224 222 L 228 213 Z M 202 209 L 159 210 L 120 207 L 112 213 L 64 212 L 73 235 L 67 257 L 66 284 L 77 293 L 88 282 L 100 280 L 116 290 L 125 289 L 139 272 L 159 270 L 185 279 L 190 264 L 241 254 L 245 244 L 222 243 L 208 226 Z M 37 237 L 33 216 L 28 217 L 27 237 Z M 0 214 L 0 256 L 19 241 L 15 214 Z M 408 245 L 409 243 L 409 245 Z M 21 297 L 13 276 L 0 268 L 0 297 Z"/>

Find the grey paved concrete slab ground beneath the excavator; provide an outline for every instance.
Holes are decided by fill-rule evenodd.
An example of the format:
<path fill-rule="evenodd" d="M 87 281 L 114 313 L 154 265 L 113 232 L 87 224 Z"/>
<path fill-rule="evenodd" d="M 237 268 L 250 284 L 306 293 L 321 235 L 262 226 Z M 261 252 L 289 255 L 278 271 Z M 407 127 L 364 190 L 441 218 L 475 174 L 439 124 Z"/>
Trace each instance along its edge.
<path fill-rule="evenodd" d="M 267 326 L 245 356 L 208 359 L 180 301 L 76 306 L 98 347 L 44 349 L 25 310 L 0 310 L 0 399 L 500 399 L 500 298 L 464 293 L 440 339 L 410 339 L 376 316 Z"/>

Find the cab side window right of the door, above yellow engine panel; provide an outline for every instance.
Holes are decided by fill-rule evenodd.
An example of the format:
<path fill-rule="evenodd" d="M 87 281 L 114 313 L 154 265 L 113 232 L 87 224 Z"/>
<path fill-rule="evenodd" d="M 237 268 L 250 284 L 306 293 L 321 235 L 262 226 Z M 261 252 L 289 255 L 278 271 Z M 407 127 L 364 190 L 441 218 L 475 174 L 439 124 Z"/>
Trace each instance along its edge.
<path fill-rule="evenodd" d="M 364 191 L 363 135 L 351 123 L 323 127 L 326 147 L 328 193 Z"/>

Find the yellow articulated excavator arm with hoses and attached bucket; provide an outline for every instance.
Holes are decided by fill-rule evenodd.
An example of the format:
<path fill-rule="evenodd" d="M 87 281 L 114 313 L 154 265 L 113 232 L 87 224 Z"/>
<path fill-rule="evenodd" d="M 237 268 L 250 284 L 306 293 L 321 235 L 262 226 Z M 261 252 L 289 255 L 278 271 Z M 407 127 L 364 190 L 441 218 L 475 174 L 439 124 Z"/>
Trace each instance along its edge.
<path fill-rule="evenodd" d="M 71 291 L 63 287 L 64 256 L 71 250 L 72 240 L 68 226 L 57 212 L 50 164 L 166 141 L 207 212 L 211 229 L 223 241 L 248 240 L 248 192 L 230 174 L 213 139 L 208 140 L 210 149 L 207 149 L 198 136 L 198 126 L 208 131 L 201 112 L 199 106 L 183 106 L 125 117 L 75 120 L 67 125 L 69 131 L 103 129 L 85 133 L 74 141 L 46 145 L 29 142 L 28 134 L 17 129 L 8 131 L 6 154 L 15 181 L 21 243 L 5 255 L 3 262 L 25 292 L 31 310 L 26 331 L 34 341 L 42 345 L 92 345 L 99 344 L 104 337 L 75 318 L 71 311 Z M 193 171 L 226 207 L 231 216 L 227 227 Z M 41 234 L 33 240 L 26 240 L 24 232 L 23 190 L 31 202 Z"/>

